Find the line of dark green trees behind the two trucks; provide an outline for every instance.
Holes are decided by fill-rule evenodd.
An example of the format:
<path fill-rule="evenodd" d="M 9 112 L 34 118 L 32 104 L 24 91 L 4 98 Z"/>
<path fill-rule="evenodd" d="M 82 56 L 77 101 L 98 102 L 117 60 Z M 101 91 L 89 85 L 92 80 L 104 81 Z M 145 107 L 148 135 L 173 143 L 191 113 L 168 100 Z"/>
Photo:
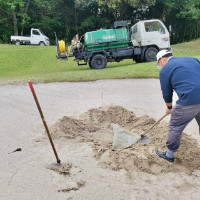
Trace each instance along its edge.
<path fill-rule="evenodd" d="M 200 37 L 199 0 L 0 0 L 0 43 L 11 35 L 41 29 L 55 44 L 73 36 L 109 28 L 116 20 L 160 19 L 172 27 L 171 43 Z"/>

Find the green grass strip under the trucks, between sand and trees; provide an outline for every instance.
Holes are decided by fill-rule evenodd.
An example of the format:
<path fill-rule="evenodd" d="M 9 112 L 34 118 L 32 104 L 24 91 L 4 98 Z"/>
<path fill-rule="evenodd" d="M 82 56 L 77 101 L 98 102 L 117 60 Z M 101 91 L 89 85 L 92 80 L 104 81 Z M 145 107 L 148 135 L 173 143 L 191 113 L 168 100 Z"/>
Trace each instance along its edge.
<path fill-rule="evenodd" d="M 174 56 L 200 59 L 200 40 L 172 46 Z M 38 82 L 93 81 L 121 78 L 158 78 L 156 62 L 136 64 L 131 59 L 108 63 L 103 70 L 78 66 L 73 58 L 56 59 L 56 47 L 0 45 L 0 85 Z"/>

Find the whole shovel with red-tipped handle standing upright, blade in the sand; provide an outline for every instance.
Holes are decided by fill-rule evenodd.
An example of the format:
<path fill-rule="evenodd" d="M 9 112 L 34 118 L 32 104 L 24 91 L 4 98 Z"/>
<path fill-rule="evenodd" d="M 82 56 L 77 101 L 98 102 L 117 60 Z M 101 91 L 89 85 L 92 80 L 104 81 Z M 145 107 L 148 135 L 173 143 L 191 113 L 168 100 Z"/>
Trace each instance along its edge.
<path fill-rule="evenodd" d="M 43 121 L 43 124 L 44 124 L 44 127 L 45 127 L 45 129 L 46 129 L 46 132 L 47 132 L 49 141 L 50 141 L 50 143 L 51 143 L 53 152 L 54 152 L 55 157 L 56 157 L 56 160 L 57 160 L 57 163 L 52 163 L 52 164 L 50 164 L 49 166 L 47 166 L 47 168 L 48 168 L 48 169 L 51 169 L 51 170 L 59 171 L 59 172 L 61 172 L 61 173 L 66 173 L 66 172 L 68 173 L 67 170 L 65 171 L 65 166 L 61 164 L 61 161 L 60 161 L 60 159 L 59 159 L 59 157 L 58 157 L 56 148 L 55 148 L 54 143 L 53 143 L 53 140 L 52 140 L 52 138 L 51 138 L 51 134 L 50 134 L 50 132 L 49 132 L 48 126 L 47 126 L 47 124 L 46 124 L 46 121 L 45 121 L 45 119 L 44 119 L 44 115 L 43 115 L 43 113 L 42 113 L 42 109 L 41 109 L 40 104 L 39 104 L 39 101 L 38 101 L 38 99 L 37 99 L 37 96 L 36 96 L 35 90 L 34 90 L 34 88 L 33 88 L 32 82 L 31 82 L 31 81 L 28 81 L 28 84 L 29 84 L 29 87 L 30 87 L 31 92 L 32 92 L 32 94 L 33 94 L 35 103 L 36 103 L 36 105 L 37 105 L 38 111 L 39 111 L 39 113 L 40 113 L 41 119 L 42 119 L 42 121 Z"/>

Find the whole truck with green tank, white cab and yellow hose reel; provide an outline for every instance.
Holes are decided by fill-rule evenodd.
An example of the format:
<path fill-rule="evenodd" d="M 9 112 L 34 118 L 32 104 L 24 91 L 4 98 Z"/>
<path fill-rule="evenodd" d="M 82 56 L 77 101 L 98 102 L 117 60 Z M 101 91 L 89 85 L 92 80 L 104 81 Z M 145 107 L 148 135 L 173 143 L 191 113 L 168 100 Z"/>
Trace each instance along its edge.
<path fill-rule="evenodd" d="M 78 65 L 103 69 L 107 62 L 133 59 L 136 62 L 155 61 L 161 49 L 169 49 L 169 32 L 160 20 L 145 20 L 133 25 L 130 21 L 116 21 L 111 29 L 76 35 L 67 51 L 64 41 L 58 41 L 57 58 L 74 57 Z M 68 48 L 67 48 L 68 49 Z"/>

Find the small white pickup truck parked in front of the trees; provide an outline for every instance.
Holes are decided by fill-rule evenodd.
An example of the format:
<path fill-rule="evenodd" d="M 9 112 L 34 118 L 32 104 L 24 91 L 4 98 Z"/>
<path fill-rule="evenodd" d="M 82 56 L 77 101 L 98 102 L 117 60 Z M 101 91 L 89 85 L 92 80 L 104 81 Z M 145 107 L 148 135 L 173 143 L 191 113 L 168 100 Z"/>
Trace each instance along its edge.
<path fill-rule="evenodd" d="M 11 36 L 11 42 L 14 42 L 16 45 L 21 44 L 34 44 L 45 46 L 49 45 L 49 38 L 39 29 L 31 29 L 31 36 Z"/>

